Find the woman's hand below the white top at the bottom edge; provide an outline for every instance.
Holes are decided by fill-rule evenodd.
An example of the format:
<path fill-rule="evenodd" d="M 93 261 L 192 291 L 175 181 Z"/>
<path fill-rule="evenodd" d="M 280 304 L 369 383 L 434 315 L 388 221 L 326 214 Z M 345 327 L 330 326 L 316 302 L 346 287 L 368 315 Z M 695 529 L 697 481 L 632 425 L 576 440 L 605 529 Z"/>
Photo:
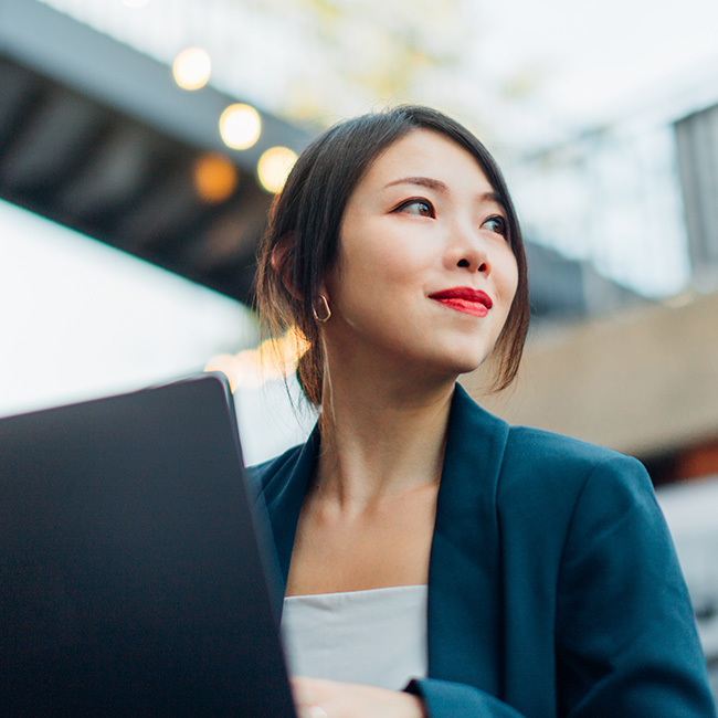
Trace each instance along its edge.
<path fill-rule="evenodd" d="M 424 718 L 416 696 L 400 690 L 293 678 L 294 700 L 302 718 Z"/>

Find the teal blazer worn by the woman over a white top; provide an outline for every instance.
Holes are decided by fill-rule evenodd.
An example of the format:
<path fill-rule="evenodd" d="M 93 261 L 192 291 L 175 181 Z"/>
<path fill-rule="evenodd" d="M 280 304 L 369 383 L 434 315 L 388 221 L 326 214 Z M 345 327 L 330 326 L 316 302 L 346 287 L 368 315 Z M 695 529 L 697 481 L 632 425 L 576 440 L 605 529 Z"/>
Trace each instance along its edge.
<path fill-rule="evenodd" d="M 319 447 L 256 467 L 286 585 Z M 673 543 L 643 466 L 509 426 L 456 387 L 429 568 L 433 718 L 714 718 Z"/>

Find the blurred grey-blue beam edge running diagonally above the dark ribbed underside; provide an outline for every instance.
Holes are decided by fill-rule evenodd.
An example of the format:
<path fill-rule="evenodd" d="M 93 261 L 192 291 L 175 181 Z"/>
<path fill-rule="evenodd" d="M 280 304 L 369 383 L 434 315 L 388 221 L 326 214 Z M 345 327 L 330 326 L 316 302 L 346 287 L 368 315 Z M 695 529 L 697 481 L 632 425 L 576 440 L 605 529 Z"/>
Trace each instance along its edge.
<path fill-rule="evenodd" d="M 258 142 L 247 150 L 229 150 L 218 120 L 237 98 L 211 86 L 183 91 L 167 65 L 36 0 L 0 0 L 0 53 L 180 141 L 231 152 L 250 172 L 268 147 L 300 150 L 310 137 L 261 112 Z"/>

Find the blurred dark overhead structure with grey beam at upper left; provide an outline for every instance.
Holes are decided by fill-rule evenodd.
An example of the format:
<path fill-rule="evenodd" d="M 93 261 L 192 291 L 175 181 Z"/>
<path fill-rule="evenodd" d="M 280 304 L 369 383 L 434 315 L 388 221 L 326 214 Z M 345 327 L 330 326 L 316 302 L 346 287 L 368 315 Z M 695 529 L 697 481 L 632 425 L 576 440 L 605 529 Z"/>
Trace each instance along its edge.
<path fill-rule="evenodd" d="M 309 134 L 262 114 L 257 144 L 231 150 L 218 118 L 235 102 L 180 89 L 34 0 L 0 0 L 0 198 L 246 303 L 273 197 L 257 160 Z"/>

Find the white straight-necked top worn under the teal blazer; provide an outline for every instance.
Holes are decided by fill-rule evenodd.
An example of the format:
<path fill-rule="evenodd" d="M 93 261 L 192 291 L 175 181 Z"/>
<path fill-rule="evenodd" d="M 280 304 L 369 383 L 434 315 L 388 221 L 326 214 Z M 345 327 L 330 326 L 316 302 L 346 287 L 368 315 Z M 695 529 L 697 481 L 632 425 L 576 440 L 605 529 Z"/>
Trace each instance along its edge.
<path fill-rule="evenodd" d="M 425 585 L 285 598 L 289 673 L 394 690 L 425 677 L 426 598 Z"/>

